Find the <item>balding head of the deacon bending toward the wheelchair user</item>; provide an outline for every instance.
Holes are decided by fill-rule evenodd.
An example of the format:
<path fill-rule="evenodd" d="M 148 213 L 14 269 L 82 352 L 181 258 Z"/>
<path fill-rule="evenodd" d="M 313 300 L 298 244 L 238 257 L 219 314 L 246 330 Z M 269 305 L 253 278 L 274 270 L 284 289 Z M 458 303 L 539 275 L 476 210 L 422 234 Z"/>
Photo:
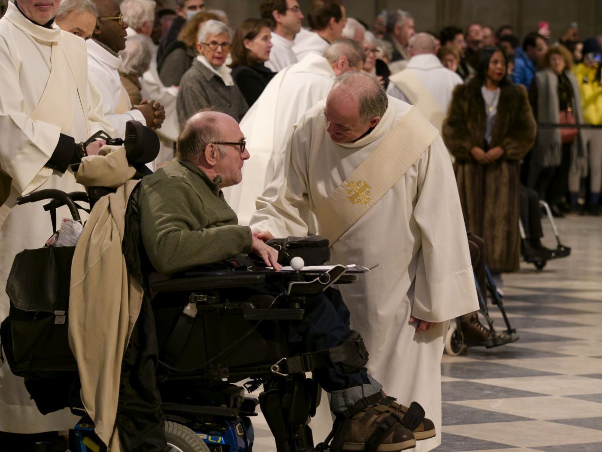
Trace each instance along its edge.
<path fill-rule="evenodd" d="M 335 143 L 352 143 L 380 122 L 387 106 L 385 91 L 372 76 L 341 75 L 326 99 L 327 132 Z"/>

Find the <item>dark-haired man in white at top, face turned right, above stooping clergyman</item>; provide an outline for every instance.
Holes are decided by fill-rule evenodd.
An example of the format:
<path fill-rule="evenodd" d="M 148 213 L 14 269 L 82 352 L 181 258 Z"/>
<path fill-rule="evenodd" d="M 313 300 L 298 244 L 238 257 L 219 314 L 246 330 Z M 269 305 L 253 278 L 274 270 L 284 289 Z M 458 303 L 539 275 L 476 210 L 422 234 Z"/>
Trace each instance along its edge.
<path fill-rule="evenodd" d="M 293 52 L 297 61 L 309 54 L 323 54 L 331 43 L 343 37 L 345 7 L 340 0 L 314 0 L 307 20 L 311 31 L 301 29 L 295 36 Z"/>

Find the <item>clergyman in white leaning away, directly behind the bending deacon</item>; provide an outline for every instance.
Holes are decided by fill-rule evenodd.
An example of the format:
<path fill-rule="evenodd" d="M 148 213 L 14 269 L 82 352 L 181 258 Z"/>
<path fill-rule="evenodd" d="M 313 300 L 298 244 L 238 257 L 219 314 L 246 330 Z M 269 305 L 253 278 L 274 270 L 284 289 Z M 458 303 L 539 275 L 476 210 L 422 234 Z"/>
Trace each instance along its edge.
<path fill-rule="evenodd" d="M 248 224 L 255 212 L 255 199 L 268 183 L 279 186 L 284 150 L 291 128 L 318 101 L 326 99 L 337 76 L 361 70 L 365 55 L 352 40 L 340 39 L 324 56 L 308 55 L 299 63 L 279 72 L 240 122 L 252 158 L 244 166 L 243 182 L 227 187 L 226 201 Z"/>

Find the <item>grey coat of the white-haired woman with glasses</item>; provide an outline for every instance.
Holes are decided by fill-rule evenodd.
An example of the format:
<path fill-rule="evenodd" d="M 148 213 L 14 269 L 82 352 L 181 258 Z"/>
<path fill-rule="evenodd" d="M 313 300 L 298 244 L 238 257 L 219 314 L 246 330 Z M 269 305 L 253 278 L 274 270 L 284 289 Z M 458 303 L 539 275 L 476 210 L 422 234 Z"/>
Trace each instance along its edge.
<path fill-rule="evenodd" d="M 180 129 L 194 113 L 206 107 L 229 114 L 237 122 L 243 119 L 249 106 L 237 85 L 226 86 L 222 79 L 199 60 L 194 60 L 182 76 L 178 91 L 178 121 Z"/>

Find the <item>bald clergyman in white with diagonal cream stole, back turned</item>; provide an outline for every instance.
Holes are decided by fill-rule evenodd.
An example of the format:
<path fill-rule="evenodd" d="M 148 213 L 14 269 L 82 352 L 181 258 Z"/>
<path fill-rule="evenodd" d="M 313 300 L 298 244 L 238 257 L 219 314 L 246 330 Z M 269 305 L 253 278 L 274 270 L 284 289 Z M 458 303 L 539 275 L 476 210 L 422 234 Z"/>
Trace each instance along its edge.
<path fill-rule="evenodd" d="M 441 131 L 453 89 L 462 79 L 441 64 L 435 49 L 435 39 L 430 34 L 414 35 L 408 46 L 412 55 L 408 66 L 389 77 L 386 93 L 414 105 Z"/>

